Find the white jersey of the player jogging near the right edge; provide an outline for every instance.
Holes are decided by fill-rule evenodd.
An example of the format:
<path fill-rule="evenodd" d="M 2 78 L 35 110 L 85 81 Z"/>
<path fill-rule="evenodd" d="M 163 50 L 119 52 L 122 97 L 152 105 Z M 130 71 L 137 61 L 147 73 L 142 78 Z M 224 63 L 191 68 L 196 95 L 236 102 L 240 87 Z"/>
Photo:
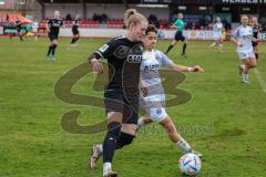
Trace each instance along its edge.
<path fill-rule="evenodd" d="M 250 27 L 238 27 L 234 32 L 234 37 L 242 43 L 242 46 L 237 46 L 237 52 L 253 51 L 253 29 Z"/>

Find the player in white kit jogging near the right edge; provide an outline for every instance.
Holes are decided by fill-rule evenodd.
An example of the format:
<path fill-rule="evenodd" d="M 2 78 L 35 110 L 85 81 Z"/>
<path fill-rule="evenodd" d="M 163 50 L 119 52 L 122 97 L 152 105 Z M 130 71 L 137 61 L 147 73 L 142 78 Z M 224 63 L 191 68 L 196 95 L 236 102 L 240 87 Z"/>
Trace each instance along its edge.
<path fill-rule="evenodd" d="M 239 66 L 239 74 L 243 76 L 243 83 L 248 83 L 248 71 L 256 67 L 256 58 L 253 50 L 253 41 L 257 41 L 253 37 L 253 28 L 248 27 L 248 17 L 243 14 L 241 18 L 242 25 L 239 25 L 232 38 L 232 41 L 237 44 L 237 54 L 243 61 Z"/>

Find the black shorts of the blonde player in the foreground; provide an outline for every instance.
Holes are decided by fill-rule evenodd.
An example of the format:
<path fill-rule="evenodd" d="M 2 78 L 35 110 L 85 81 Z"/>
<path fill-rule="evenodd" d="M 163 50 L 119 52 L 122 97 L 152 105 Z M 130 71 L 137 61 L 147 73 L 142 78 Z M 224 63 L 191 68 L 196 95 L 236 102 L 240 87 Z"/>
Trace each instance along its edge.
<path fill-rule="evenodd" d="M 137 124 L 139 95 L 125 95 L 123 90 L 105 90 L 104 104 L 106 113 L 122 113 L 124 124 Z"/>

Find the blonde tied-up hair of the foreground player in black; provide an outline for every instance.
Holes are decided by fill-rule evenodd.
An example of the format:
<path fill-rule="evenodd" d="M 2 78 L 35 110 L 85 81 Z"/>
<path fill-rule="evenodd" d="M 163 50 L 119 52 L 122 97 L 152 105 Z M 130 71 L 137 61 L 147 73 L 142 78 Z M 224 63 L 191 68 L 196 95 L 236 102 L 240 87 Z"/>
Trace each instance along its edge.
<path fill-rule="evenodd" d="M 144 15 L 139 13 L 135 9 L 129 9 L 124 13 L 124 24 L 126 28 L 130 27 L 131 23 L 140 23 L 142 21 L 147 21 Z"/>

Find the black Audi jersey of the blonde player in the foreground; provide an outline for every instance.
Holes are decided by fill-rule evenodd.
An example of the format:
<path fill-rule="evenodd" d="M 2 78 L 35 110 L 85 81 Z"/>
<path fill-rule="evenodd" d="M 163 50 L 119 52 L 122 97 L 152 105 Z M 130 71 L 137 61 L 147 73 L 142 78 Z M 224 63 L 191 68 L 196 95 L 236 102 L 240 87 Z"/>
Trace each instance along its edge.
<path fill-rule="evenodd" d="M 114 38 L 96 50 L 95 55 L 108 60 L 108 90 L 122 88 L 125 94 L 139 95 L 140 66 L 143 55 L 141 42 L 132 42 L 125 37 Z"/>

